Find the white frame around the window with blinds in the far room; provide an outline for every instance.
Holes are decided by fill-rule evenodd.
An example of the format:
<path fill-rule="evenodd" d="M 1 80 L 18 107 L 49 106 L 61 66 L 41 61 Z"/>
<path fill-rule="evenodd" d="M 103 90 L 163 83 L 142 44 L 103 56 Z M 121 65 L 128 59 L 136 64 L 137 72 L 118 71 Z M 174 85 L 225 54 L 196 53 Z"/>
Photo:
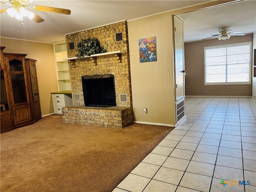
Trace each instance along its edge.
<path fill-rule="evenodd" d="M 215 82 L 215 83 L 206 83 L 206 50 L 213 48 L 225 48 L 232 46 L 240 46 L 240 45 L 249 45 L 250 46 L 250 60 L 249 60 L 249 82 Z M 242 43 L 232 43 L 225 45 L 217 45 L 217 46 L 208 46 L 204 47 L 204 85 L 245 85 L 252 83 L 252 42 L 242 42 Z"/>

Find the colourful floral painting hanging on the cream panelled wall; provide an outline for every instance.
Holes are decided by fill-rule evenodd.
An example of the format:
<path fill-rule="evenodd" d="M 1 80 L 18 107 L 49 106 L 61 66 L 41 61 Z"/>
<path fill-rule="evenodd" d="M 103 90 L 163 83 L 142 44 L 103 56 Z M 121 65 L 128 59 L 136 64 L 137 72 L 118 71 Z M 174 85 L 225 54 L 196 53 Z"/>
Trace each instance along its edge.
<path fill-rule="evenodd" d="M 156 36 L 139 39 L 140 63 L 156 61 Z"/>

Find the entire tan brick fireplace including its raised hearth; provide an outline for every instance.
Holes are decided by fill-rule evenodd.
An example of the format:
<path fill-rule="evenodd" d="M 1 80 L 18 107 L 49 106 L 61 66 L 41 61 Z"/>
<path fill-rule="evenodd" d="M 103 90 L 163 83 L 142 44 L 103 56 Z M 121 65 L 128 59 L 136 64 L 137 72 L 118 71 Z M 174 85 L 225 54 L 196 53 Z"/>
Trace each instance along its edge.
<path fill-rule="evenodd" d="M 63 122 L 114 128 L 128 126 L 133 122 L 133 112 L 127 22 L 66 34 L 68 58 L 76 57 L 77 44 L 86 38 L 98 38 L 100 45 L 111 54 L 69 60 L 73 105 L 62 108 Z M 69 49 L 70 43 L 74 43 L 75 49 Z M 105 74 L 114 76 L 116 106 L 86 106 L 82 77 Z"/>

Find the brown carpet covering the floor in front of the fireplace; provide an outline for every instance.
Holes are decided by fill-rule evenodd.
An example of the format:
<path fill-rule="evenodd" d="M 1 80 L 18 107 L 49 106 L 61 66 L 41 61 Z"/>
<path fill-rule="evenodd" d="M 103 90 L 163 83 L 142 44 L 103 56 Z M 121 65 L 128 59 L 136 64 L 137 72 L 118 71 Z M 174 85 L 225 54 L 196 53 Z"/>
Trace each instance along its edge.
<path fill-rule="evenodd" d="M 1 134 L 1 192 L 111 192 L 172 130 L 62 123 L 44 117 Z"/>

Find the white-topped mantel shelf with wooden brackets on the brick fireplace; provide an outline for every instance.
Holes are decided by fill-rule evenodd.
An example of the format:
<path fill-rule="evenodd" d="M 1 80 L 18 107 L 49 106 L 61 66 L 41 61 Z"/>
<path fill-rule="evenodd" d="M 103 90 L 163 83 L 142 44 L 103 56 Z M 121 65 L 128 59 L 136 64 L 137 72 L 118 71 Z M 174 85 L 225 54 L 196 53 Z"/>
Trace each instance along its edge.
<path fill-rule="evenodd" d="M 93 54 L 91 56 L 84 56 L 83 58 L 78 58 L 78 57 L 70 57 L 70 58 L 64 58 L 63 60 L 64 61 L 70 61 L 70 65 L 72 67 L 76 67 L 74 65 L 74 63 L 72 62 L 73 60 L 78 60 L 78 59 L 84 59 L 84 58 L 90 58 L 91 60 L 93 60 L 93 62 L 95 63 L 95 65 L 97 65 L 97 57 L 100 57 L 100 56 L 104 56 L 104 55 L 111 55 L 111 54 L 114 54 L 116 56 L 116 59 L 122 63 L 122 53 L 125 53 L 125 51 L 113 51 L 113 52 L 106 52 L 106 53 L 99 53 L 99 54 Z"/>

